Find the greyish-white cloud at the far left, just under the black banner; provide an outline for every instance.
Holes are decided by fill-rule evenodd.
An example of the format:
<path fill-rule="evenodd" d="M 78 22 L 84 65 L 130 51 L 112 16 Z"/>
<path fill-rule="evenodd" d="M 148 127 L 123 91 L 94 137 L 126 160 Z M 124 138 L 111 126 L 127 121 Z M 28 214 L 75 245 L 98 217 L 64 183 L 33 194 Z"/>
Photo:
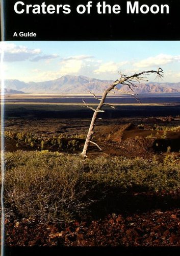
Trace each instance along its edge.
<path fill-rule="evenodd" d="M 17 46 L 8 42 L 1 42 L 0 53 L 4 51 L 4 61 L 15 62 L 15 61 L 39 61 L 57 58 L 58 55 L 42 55 L 41 49 L 29 49 L 26 46 Z"/>

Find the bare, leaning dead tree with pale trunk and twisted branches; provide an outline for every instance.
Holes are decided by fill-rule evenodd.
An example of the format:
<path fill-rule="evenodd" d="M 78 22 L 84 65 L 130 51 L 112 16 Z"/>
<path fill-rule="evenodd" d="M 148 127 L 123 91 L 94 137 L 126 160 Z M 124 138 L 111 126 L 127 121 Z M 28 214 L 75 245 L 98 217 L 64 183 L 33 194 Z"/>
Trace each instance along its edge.
<path fill-rule="evenodd" d="M 96 109 L 92 108 L 92 106 L 87 105 L 85 100 L 83 100 L 85 106 L 94 111 L 94 114 L 93 114 L 93 117 L 92 117 L 92 120 L 91 120 L 91 124 L 89 126 L 89 131 L 88 131 L 88 134 L 87 134 L 87 137 L 86 137 L 86 141 L 85 141 L 85 144 L 84 144 L 83 152 L 81 153 L 81 155 L 83 157 L 87 157 L 87 151 L 88 151 L 90 143 L 95 144 L 99 148 L 99 150 L 101 150 L 101 148 L 95 142 L 93 142 L 91 139 L 92 139 L 92 136 L 94 134 L 94 126 L 95 126 L 95 122 L 96 122 L 98 113 L 99 112 L 105 112 L 104 110 L 102 110 L 102 107 L 105 106 L 105 105 L 108 105 L 111 108 L 115 109 L 115 107 L 113 105 L 105 103 L 105 99 L 106 99 L 108 93 L 110 93 L 112 90 L 117 90 L 117 91 L 122 92 L 122 93 L 128 93 L 128 94 L 132 95 L 137 101 L 139 101 L 135 96 L 136 94 L 133 93 L 133 88 L 138 87 L 137 84 L 135 84 L 135 82 L 140 83 L 140 81 L 148 81 L 145 77 L 143 77 L 143 75 L 150 75 L 150 74 L 157 74 L 157 77 L 163 78 L 163 70 L 161 68 L 159 68 L 158 71 L 155 71 L 155 70 L 143 71 L 143 72 L 138 73 L 138 74 L 135 73 L 132 76 L 127 76 L 127 75 L 124 75 L 124 74 L 120 73 L 119 80 L 114 81 L 104 91 L 104 93 L 102 94 L 102 97 L 100 99 L 97 98 L 94 93 L 90 92 L 91 94 L 93 94 L 95 99 L 100 101 Z M 121 91 L 120 89 L 118 89 L 116 87 L 118 84 L 121 84 L 122 86 L 124 86 L 124 85 L 128 86 L 128 88 L 130 88 L 132 93 L 128 92 L 128 91 L 126 91 L 126 92 Z"/>

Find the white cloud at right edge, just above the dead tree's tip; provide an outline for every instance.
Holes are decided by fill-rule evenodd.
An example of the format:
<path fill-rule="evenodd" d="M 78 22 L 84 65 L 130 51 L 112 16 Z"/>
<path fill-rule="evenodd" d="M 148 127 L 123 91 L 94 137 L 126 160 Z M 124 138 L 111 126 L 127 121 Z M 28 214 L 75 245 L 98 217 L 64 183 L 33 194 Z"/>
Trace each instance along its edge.
<path fill-rule="evenodd" d="M 175 61 L 180 61 L 180 55 L 172 56 L 167 54 L 159 54 L 155 57 L 140 60 L 139 62 L 134 63 L 133 66 L 137 68 L 160 67 Z"/>

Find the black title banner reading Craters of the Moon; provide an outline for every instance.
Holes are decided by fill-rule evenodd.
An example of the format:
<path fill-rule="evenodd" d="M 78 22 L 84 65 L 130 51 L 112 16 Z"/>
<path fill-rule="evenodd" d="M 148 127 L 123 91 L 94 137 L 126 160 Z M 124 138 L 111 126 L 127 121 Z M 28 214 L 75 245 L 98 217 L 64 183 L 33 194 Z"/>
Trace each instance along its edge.
<path fill-rule="evenodd" d="M 179 10 L 179 0 L 6 0 L 3 40 L 179 40 Z"/>

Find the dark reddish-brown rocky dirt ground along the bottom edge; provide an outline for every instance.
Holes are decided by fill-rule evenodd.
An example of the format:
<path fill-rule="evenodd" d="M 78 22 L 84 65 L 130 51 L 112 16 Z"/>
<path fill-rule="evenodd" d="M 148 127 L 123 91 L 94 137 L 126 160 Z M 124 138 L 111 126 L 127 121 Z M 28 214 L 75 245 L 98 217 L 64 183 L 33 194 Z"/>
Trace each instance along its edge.
<path fill-rule="evenodd" d="M 98 219 L 46 224 L 31 218 L 6 220 L 6 245 L 180 246 L 179 191 L 134 193 L 126 199 L 119 212 Z"/>

